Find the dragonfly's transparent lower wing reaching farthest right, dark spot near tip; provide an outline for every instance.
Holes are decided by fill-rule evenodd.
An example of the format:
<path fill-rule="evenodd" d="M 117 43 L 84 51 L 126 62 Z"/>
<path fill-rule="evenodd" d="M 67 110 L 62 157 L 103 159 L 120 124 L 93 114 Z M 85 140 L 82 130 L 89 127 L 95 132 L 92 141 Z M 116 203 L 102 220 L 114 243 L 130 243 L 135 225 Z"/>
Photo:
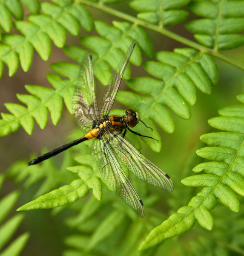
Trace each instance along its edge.
<path fill-rule="evenodd" d="M 116 154 L 130 172 L 152 186 L 167 192 L 173 191 L 174 185 L 169 175 L 144 157 L 126 137 L 122 134 L 116 134 L 116 136 L 109 134 L 109 136 Z"/>

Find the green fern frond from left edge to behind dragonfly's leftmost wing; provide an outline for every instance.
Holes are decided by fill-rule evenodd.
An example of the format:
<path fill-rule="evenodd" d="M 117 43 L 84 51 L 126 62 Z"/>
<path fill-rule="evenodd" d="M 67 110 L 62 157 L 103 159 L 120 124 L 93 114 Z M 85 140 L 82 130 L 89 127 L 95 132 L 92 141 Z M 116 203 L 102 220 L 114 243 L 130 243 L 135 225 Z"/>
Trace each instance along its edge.
<path fill-rule="evenodd" d="M 56 70 L 60 65 L 53 64 L 52 67 Z M 63 65 L 63 70 L 70 70 L 71 79 L 74 79 L 74 70 L 76 69 L 75 79 L 79 71 L 79 66 L 74 64 L 66 63 Z M 69 75 L 68 74 L 68 75 Z M 25 88 L 32 95 L 20 95 L 17 94 L 17 98 L 24 104 L 27 108 L 19 104 L 6 103 L 5 107 L 9 110 L 12 115 L 1 113 L 2 120 L 0 120 L 0 136 L 6 136 L 11 132 L 17 131 L 20 126 L 22 126 L 28 134 L 32 134 L 34 129 L 34 120 L 40 128 L 44 129 L 48 122 L 48 111 L 51 113 L 51 119 L 54 125 L 56 125 L 61 117 L 63 110 L 63 103 L 70 113 L 72 113 L 72 96 L 74 93 L 75 85 L 73 82 L 67 83 L 60 79 L 59 76 L 54 74 L 47 74 L 47 78 L 52 83 L 56 90 L 49 88 L 37 86 L 37 85 L 26 85 Z"/>

